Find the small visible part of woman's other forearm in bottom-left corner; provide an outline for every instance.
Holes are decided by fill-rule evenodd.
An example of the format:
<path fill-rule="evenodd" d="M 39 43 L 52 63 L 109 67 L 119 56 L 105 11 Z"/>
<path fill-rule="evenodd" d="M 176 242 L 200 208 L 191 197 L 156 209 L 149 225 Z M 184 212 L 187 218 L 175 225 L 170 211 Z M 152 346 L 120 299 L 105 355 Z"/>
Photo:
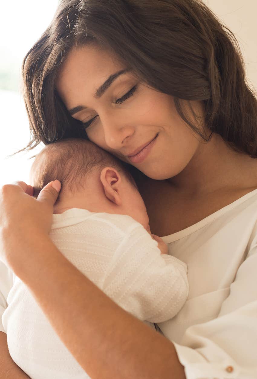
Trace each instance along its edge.
<path fill-rule="evenodd" d="M 0 379 L 30 379 L 10 356 L 6 334 L 0 332 Z"/>

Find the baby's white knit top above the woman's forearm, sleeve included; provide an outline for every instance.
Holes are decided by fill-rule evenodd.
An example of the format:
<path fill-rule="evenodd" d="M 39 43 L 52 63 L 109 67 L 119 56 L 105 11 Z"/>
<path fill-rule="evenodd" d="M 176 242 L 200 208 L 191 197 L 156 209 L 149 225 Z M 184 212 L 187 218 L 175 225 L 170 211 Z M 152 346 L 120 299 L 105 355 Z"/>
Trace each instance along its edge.
<path fill-rule="evenodd" d="M 96 214 L 79 225 L 79 230 L 75 225 L 50 235 L 65 257 L 120 307 L 152 323 L 180 311 L 188 296 L 187 266 L 161 254 L 158 244 L 163 252 L 167 246 L 159 237 L 154 240 L 129 216 L 117 220 Z M 102 231 L 101 239 L 96 240 L 96 230 Z"/>

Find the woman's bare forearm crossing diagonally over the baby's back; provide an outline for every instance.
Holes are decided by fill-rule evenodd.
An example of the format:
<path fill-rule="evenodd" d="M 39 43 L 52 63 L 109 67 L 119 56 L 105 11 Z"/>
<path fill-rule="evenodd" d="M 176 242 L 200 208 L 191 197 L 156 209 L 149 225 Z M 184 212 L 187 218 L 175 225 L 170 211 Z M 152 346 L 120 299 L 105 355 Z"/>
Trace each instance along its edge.
<path fill-rule="evenodd" d="M 184 379 L 173 344 L 125 312 L 43 236 L 10 266 L 92 379 Z"/>

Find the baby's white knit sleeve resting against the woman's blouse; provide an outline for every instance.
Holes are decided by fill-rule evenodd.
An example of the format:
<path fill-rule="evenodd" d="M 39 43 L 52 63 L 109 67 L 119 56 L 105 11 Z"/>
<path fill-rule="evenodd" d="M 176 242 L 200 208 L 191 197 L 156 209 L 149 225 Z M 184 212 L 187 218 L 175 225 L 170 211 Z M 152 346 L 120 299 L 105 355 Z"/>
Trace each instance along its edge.
<path fill-rule="evenodd" d="M 101 289 L 127 312 L 158 323 L 176 315 L 188 296 L 187 265 L 160 253 L 158 243 L 134 223 L 119 244 Z"/>

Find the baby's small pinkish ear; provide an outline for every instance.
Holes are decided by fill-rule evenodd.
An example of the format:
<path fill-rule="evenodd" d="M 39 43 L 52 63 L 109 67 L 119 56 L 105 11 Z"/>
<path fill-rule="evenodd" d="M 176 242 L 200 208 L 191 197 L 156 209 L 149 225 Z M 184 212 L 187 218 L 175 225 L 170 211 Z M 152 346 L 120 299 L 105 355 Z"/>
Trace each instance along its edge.
<path fill-rule="evenodd" d="M 121 205 L 121 175 L 119 172 L 113 167 L 105 167 L 101 171 L 100 180 L 107 199 L 116 205 Z"/>

